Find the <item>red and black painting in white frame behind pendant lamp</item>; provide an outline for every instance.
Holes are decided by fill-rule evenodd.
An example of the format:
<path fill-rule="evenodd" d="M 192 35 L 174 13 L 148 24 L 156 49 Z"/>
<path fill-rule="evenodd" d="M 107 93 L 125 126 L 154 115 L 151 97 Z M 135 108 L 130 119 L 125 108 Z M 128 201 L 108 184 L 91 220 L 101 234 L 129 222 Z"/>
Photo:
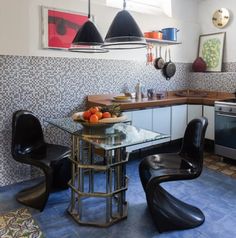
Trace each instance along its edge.
<path fill-rule="evenodd" d="M 65 38 L 65 35 L 61 36 L 57 32 L 56 26 L 54 27 L 56 29 L 51 30 L 52 24 L 54 23 L 52 22 L 52 16 L 50 16 L 52 12 L 58 13 L 61 15 L 64 14 L 65 19 L 62 19 L 62 20 L 64 20 L 64 22 L 67 23 L 66 28 L 67 28 L 67 31 L 70 32 L 70 35 L 67 35 L 66 38 Z M 76 20 L 76 21 L 75 22 L 70 21 L 70 17 L 73 17 L 73 20 L 74 21 Z M 55 16 L 54 19 L 58 21 L 57 16 Z M 91 19 L 93 21 L 94 16 L 91 16 Z M 77 31 L 79 30 L 79 27 L 81 27 L 87 20 L 88 20 L 88 15 L 86 13 L 64 10 L 64 9 L 54 8 L 54 7 L 41 6 L 41 47 L 43 49 L 68 50 Z M 56 23 L 54 24 L 56 25 Z M 63 29 L 60 33 L 64 33 Z M 55 34 L 55 36 L 53 34 Z M 52 38 L 57 40 L 52 41 L 51 40 Z M 65 39 L 66 39 L 66 42 L 64 42 Z"/>

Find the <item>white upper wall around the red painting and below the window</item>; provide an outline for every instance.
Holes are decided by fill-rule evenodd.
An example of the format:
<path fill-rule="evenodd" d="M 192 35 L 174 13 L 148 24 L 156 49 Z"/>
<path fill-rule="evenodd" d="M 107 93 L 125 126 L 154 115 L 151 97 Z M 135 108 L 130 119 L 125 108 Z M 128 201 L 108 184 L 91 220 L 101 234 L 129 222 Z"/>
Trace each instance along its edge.
<path fill-rule="evenodd" d="M 96 25 L 105 36 L 118 9 L 91 2 Z M 198 0 L 172 0 L 172 2 L 173 18 L 139 13 L 132 15 L 144 32 L 164 27 L 179 28 L 178 38 L 183 44 L 172 47 L 172 58 L 175 62 L 192 62 L 196 57 L 195 49 L 199 35 L 199 24 L 196 22 Z M 145 60 L 145 49 L 112 51 L 108 54 L 81 54 L 41 49 L 40 6 L 86 13 L 87 2 L 84 0 L 0 0 L 0 3 L 0 54 Z"/>

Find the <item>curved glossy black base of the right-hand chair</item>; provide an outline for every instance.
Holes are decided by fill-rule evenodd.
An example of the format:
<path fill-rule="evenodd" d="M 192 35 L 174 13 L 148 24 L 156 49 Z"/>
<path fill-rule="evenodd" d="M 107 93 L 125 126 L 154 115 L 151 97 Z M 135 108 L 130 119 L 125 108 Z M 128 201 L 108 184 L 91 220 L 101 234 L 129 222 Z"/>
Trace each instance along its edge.
<path fill-rule="evenodd" d="M 190 229 L 205 221 L 200 209 L 180 201 L 160 185 L 152 195 L 150 200 L 147 194 L 148 207 L 159 232 Z"/>

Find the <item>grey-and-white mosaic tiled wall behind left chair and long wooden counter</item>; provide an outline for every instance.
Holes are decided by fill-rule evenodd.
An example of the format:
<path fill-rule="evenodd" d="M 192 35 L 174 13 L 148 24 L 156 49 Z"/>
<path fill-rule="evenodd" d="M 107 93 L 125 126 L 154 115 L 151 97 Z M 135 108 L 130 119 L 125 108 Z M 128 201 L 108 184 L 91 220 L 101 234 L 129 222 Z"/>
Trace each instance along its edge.
<path fill-rule="evenodd" d="M 84 108 L 86 95 L 133 90 L 138 81 L 156 90 L 185 89 L 189 64 L 178 63 L 177 73 L 166 81 L 160 71 L 145 62 L 0 56 L 0 186 L 27 180 L 34 175 L 29 166 L 15 162 L 10 153 L 12 113 L 35 112 L 45 136 L 54 143 L 69 144 L 67 134 L 44 120 L 71 115 Z"/>

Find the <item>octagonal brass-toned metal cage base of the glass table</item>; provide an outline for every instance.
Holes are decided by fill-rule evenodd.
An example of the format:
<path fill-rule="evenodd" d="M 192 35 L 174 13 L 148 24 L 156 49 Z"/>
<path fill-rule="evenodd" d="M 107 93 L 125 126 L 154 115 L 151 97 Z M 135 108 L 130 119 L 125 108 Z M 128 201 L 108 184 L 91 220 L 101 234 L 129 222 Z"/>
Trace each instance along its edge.
<path fill-rule="evenodd" d="M 105 151 L 103 164 L 96 164 L 94 162 L 94 145 L 73 135 L 70 159 L 72 161 L 72 179 L 69 183 L 71 201 L 68 212 L 75 221 L 81 225 L 107 227 L 127 218 L 128 203 L 125 192 L 128 189 L 126 163 L 128 162 L 129 154 L 125 152 L 125 148 Z M 98 192 L 95 189 L 94 177 L 98 173 L 105 175 L 105 191 L 102 192 Z M 87 188 L 86 180 L 88 180 Z M 83 204 L 89 198 L 105 200 L 105 214 L 102 214 L 104 216 L 96 221 L 91 219 L 93 218 L 91 216 L 93 212 L 90 211 L 96 207 L 88 207 Z M 84 210 L 88 210 L 90 214 L 84 215 Z M 97 215 L 98 213 L 95 214 Z"/>

